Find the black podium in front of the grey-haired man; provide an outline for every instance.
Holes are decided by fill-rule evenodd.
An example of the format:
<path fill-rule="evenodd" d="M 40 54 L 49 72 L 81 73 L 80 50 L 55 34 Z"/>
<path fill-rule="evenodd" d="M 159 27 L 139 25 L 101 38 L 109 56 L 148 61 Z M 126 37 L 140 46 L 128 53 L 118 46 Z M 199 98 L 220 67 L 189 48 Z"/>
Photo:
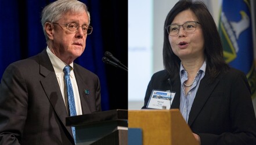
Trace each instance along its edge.
<path fill-rule="evenodd" d="M 76 145 L 127 145 L 128 111 L 117 109 L 66 118 L 75 127 Z"/>

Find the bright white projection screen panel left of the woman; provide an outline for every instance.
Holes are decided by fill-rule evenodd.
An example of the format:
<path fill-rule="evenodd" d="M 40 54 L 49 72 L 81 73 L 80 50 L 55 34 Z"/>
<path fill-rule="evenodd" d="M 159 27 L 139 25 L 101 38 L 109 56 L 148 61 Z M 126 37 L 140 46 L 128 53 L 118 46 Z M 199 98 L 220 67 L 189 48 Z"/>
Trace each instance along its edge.
<path fill-rule="evenodd" d="M 152 1 L 128 1 L 129 101 L 142 101 L 152 75 L 152 13 Z"/>

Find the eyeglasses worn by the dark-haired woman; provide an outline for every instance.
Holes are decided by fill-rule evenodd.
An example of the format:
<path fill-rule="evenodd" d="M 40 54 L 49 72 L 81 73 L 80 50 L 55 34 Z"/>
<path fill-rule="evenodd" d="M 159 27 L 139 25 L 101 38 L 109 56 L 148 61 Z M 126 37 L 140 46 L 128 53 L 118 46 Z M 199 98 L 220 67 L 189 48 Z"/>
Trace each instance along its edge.
<path fill-rule="evenodd" d="M 174 36 L 179 33 L 179 28 L 181 26 L 184 29 L 184 31 L 187 33 L 192 33 L 194 31 L 196 31 L 197 24 L 200 24 L 200 23 L 197 21 L 188 21 L 188 22 L 184 23 L 183 25 L 175 25 L 175 24 L 168 25 L 167 27 L 165 27 L 165 29 L 167 30 L 167 32 L 170 36 Z"/>

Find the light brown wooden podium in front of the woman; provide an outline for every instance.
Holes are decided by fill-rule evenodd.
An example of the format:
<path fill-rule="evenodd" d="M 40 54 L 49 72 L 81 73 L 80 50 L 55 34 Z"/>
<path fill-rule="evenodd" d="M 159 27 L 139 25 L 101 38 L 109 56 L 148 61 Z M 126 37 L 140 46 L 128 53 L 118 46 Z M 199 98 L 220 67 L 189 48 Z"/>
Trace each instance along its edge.
<path fill-rule="evenodd" d="M 129 128 L 142 129 L 142 144 L 198 145 L 178 109 L 129 110 Z"/>

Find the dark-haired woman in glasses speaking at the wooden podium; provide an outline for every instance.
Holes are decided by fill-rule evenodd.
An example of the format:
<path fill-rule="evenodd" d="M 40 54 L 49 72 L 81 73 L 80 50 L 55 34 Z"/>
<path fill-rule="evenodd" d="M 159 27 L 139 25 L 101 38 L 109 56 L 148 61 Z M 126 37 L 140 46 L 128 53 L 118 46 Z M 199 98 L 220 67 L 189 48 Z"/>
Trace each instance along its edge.
<path fill-rule="evenodd" d="M 215 22 L 202 2 L 179 1 L 164 24 L 164 70 L 147 86 L 175 93 L 178 108 L 200 144 L 256 144 L 256 120 L 246 75 L 230 68 Z"/>

